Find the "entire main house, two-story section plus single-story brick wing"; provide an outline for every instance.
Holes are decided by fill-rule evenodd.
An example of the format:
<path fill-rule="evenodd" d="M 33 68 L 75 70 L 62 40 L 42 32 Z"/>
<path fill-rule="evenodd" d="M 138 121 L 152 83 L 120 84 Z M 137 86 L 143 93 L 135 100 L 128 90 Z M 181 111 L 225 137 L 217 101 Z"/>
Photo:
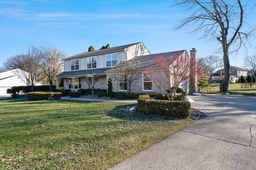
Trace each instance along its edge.
<path fill-rule="evenodd" d="M 193 50 L 195 52 L 196 50 Z M 160 92 L 154 83 L 143 76 L 147 67 L 156 67 L 154 58 L 158 56 L 172 57 L 174 55 L 188 55 L 186 50 L 161 54 L 150 54 L 143 43 L 135 43 L 108 49 L 85 52 L 65 58 L 64 72 L 57 75 L 64 81 L 64 89 L 78 90 L 88 88 L 86 79 L 90 74 L 97 74 L 99 81 L 94 88 L 107 89 L 108 78 L 111 77 L 114 92 L 126 92 L 126 82 L 113 68 L 114 65 L 128 60 L 138 63 L 137 68 L 141 72 L 140 79 L 132 84 L 133 93 Z M 196 55 L 196 53 L 193 53 Z M 189 84 L 184 82 L 182 86 L 185 92 L 189 91 Z"/>

